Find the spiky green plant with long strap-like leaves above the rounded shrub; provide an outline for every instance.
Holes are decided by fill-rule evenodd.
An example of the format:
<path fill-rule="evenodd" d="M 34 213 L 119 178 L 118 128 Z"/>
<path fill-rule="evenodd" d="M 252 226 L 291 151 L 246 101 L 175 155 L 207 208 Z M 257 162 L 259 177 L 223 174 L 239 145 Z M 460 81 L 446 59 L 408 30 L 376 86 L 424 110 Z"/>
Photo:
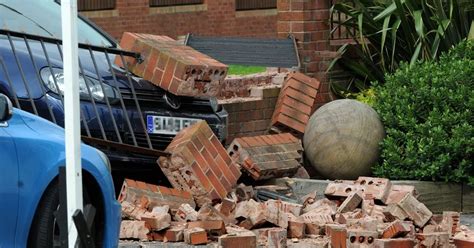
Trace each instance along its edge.
<path fill-rule="evenodd" d="M 472 0 L 341 0 L 331 11 L 347 16 L 336 24 L 355 44 L 343 45 L 336 64 L 349 72 L 347 82 L 332 84 L 335 93 L 358 92 L 384 82 L 400 62 L 436 60 L 465 39 L 474 16 Z M 354 56 L 355 55 L 355 56 Z M 355 58 L 354 58 L 355 57 Z"/>

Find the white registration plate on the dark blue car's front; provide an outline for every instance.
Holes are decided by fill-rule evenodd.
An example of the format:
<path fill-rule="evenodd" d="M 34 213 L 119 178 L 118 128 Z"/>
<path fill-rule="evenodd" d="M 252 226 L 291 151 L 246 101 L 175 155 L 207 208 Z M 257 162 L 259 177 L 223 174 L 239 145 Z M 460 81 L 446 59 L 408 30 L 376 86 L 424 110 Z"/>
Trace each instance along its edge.
<path fill-rule="evenodd" d="M 147 131 L 151 134 L 177 134 L 200 119 L 147 115 Z"/>

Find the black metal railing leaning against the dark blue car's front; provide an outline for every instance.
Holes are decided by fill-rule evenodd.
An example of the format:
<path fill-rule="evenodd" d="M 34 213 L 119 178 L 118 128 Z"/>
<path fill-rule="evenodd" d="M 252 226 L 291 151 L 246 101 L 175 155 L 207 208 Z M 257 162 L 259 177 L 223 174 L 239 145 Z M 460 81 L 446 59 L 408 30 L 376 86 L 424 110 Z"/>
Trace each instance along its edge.
<path fill-rule="evenodd" d="M 61 44 L 54 38 L 0 29 L 0 92 L 16 108 L 64 126 Z M 127 68 L 130 59 L 140 55 L 79 44 L 83 141 L 134 154 L 167 155 L 157 150 L 147 132 L 137 96 L 140 83 Z"/>

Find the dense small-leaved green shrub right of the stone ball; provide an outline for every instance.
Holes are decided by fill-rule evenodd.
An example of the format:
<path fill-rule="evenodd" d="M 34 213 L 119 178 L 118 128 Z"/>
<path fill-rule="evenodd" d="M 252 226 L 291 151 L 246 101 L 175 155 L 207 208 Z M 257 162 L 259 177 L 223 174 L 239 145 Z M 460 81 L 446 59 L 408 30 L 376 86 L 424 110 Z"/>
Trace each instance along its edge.
<path fill-rule="evenodd" d="M 375 91 L 386 131 L 375 175 L 474 185 L 474 41 L 402 64 Z"/>

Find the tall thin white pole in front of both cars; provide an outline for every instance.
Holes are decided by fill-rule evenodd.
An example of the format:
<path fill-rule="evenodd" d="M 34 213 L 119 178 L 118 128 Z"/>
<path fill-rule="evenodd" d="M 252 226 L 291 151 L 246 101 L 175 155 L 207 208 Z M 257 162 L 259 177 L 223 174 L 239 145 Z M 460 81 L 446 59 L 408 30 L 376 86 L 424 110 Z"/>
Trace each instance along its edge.
<path fill-rule="evenodd" d="M 76 247 L 77 230 L 72 215 L 82 210 L 81 128 L 79 117 L 79 56 L 77 0 L 61 1 L 64 55 L 64 121 L 66 140 L 66 192 L 69 248 Z"/>

